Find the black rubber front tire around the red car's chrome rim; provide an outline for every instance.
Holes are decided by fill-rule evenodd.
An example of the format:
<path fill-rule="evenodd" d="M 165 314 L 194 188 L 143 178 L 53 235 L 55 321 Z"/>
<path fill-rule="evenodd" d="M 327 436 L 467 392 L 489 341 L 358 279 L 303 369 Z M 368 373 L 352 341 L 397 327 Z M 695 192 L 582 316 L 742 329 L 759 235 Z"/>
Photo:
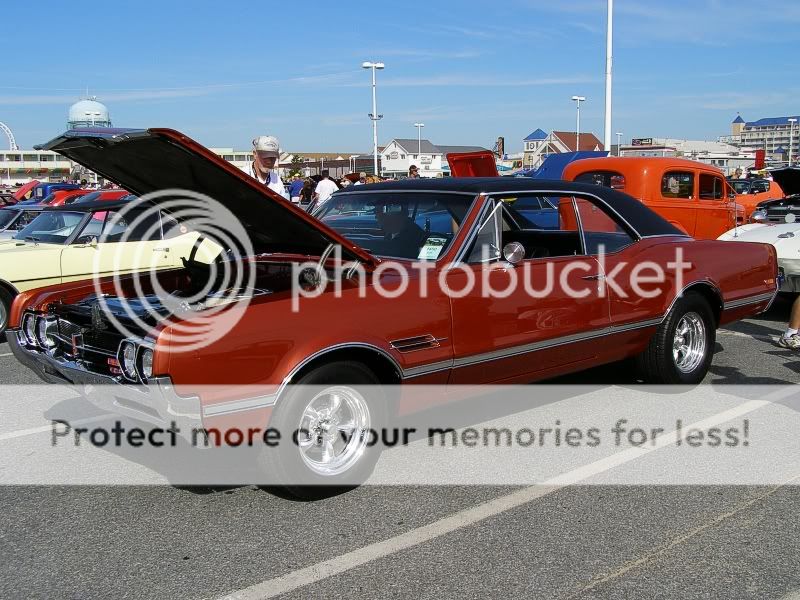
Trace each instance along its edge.
<path fill-rule="evenodd" d="M 314 390 L 307 386 L 314 386 Z M 349 406 L 348 402 L 360 405 L 363 401 L 367 408 L 368 427 L 372 432 L 380 434 L 386 423 L 386 396 L 379 388 L 380 382 L 360 363 L 348 361 L 323 365 L 287 388 L 286 393 L 279 398 L 269 424 L 270 428 L 280 431 L 280 443 L 275 447 L 262 448 L 259 452 L 259 463 L 262 468 L 267 469 L 271 481 L 297 498 L 319 499 L 358 487 L 370 476 L 380 458 L 380 444 L 373 443 L 364 445 L 360 453 L 356 451 L 352 463 L 342 472 L 321 474 L 309 466 L 308 456 L 304 458 L 299 443 L 306 436 L 305 425 L 301 423 L 304 414 L 307 414 L 306 408 L 316 397 L 315 390 L 325 391 L 329 386 L 332 389 L 338 386 L 345 394 L 355 394 L 349 400 L 344 400 L 345 409 Z M 368 390 L 369 393 L 359 393 L 359 390 Z M 367 438 L 370 437 L 370 431 L 362 431 L 361 436 L 364 433 Z M 353 435 L 353 443 L 362 443 L 359 442 L 361 436 Z M 305 441 L 313 437 L 308 434 Z M 321 445 L 316 444 L 316 448 L 321 448 Z M 318 464 L 315 466 L 319 468 Z"/>

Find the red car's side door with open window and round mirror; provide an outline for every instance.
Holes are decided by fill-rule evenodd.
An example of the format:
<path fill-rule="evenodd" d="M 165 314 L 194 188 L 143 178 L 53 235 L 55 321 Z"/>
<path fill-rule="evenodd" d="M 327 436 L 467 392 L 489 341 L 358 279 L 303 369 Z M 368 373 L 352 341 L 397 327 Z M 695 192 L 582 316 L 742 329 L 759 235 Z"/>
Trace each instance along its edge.
<path fill-rule="evenodd" d="M 451 294 L 452 384 L 524 380 L 589 359 L 596 346 L 585 338 L 608 325 L 608 300 L 596 294 L 600 265 L 584 252 L 572 197 L 539 202 L 553 211 L 544 229 L 513 210 L 516 202 L 530 206 L 528 196 L 487 199 L 474 240 L 448 274 L 458 292 Z M 525 247 L 516 266 L 501 254 L 511 243 Z M 470 281 L 472 291 L 460 295 Z"/>

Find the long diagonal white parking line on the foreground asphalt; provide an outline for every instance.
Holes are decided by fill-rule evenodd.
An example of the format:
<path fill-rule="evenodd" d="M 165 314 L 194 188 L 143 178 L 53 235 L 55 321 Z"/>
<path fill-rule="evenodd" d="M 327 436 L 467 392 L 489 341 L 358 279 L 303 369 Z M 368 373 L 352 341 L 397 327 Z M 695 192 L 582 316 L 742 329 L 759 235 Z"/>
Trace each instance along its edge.
<path fill-rule="evenodd" d="M 784 392 L 784 394 L 785 393 L 786 392 Z M 775 394 L 775 396 L 782 396 L 784 394 Z M 763 408 L 769 404 L 770 402 L 767 400 L 750 400 L 749 402 L 740 404 L 739 406 L 730 410 L 723 411 L 706 419 L 697 421 L 691 425 L 687 425 L 684 431 L 714 427 L 721 423 L 736 419 L 744 414 L 758 410 L 759 408 Z M 618 467 L 630 461 L 636 460 L 637 458 L 641 458 L 642 456 L 659 450 L 664 446 L 672 446 L 675 443 L 676 437 L 677 434 L 675 431 L 667 433 L 663 437 L 659 437 L 656 443 L 654 443 L 652 446 L 634 447 L 623 450 L 622 452 L 617 452 L 611 456 L 607 456 L 582 467 L 578 467 L 577 469 L 567 473 L 558 475 L 557 477 L 554 477 L 553 479 L 550 479 L 541 485 L 530 486 L 522 490 L 512 492 L 511 494 L 495 498 L 494 500 L 490 500 L 484 504 L 459 511 L 453 515 L 450 515 L 449 517 L 439 519 L 438 521 L 434 521 L 428 525 L 424 525 L 393 538 L 389 538 L 388 540 L 369 544 L 368 546 L 352 550 L 351 552 L 347 552 L 341 556 L 316 563 L 303 569 L 292 571 L 286 575 L 281 575 L 280 577 L 262 581 L 261 583 L 257 583 L 242 590 L 232 592 L 227 596 L 224 596 L 224 598 L 226 600 L 256 600 L 273 598 L 281 594 L 292 592 L 309 584 L 316 583 L 340 573 L 344 573 L 345 571 L 349 571 L 350 569 L 354 569 L 379 558 L 384 558 L 391 554 L 400 552 L 401 550 L 413 548 L 425 542 L 439 538 L 445 534 L 452 533 L 458 529 L 469 527 L 470 525 L 479 523 L 480 521 L 488 519 L 489 517 L 499 515 L 527 504 L 533 500 L 551 494 L 552 492 L 555 492 L 561 488 L 585 481 L 592 476 L 599 475 L 600 473 L 613 469 L 614 467 Z"/>

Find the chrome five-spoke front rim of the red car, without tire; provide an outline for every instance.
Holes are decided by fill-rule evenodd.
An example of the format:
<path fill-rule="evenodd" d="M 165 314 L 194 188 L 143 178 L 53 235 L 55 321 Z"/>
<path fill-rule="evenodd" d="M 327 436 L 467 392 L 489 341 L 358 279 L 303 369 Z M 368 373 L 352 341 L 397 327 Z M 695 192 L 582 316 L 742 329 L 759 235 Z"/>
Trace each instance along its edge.
<path fill-rule="evenodd" d="M 370 435 L 367 401 L 356 390 L 322 390 L 303 410 L 297 446 L 306 466 L 318 475 L 341 475 L 355 465 Z"/>

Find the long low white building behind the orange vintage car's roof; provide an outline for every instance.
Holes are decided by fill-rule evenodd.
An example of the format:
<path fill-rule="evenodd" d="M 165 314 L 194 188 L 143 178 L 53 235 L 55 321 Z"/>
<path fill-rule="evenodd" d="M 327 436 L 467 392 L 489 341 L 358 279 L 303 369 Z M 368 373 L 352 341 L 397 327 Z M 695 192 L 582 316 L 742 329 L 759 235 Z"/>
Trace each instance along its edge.
<path fill-rule="evenodd" d="M 635 138 L 619 147 L 619 156 L 671 156 L 696 160 L 733 175 L 755 163 L 755 152 L 721 141 Z"/>

